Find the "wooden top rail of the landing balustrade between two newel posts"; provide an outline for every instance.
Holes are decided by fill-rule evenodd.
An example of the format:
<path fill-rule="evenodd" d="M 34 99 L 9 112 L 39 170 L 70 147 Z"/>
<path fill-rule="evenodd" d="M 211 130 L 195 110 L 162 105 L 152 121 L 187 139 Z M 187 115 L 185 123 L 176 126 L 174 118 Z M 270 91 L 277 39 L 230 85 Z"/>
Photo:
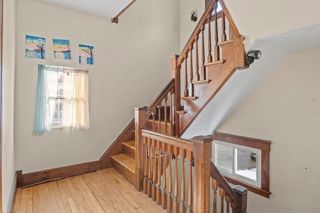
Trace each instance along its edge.
<path fill-rule="evenodd" d="M 146 130 L 146 129 L 142 129 L 141 132 L 142 132 L 141 136 L 143 136 L 143 137 L 147 137 L 147 138 L 151 138 L 151 139 L 154 139 L 157 141 L 165 142 L 168 145 L 173 145 L 173 146 L 182 148 L 187 151 L 193 150 L 193 142 L 192 141 L 178 138 L 178 137 L 174 137 L 174 136 L 164 135 L 164 134 L 161 134 L 158 132 L 153 132 L 153 131 Z"/>

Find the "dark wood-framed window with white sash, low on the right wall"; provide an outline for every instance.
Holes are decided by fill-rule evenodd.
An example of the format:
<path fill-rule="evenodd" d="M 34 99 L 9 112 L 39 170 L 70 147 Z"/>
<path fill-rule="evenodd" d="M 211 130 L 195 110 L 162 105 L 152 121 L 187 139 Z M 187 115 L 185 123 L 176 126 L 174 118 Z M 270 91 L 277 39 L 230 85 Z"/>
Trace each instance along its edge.
<path fill-rule="evenodd" d="M 214 133 L 213 163 L 232 184 L 269 197 L 270 141 Z"/>

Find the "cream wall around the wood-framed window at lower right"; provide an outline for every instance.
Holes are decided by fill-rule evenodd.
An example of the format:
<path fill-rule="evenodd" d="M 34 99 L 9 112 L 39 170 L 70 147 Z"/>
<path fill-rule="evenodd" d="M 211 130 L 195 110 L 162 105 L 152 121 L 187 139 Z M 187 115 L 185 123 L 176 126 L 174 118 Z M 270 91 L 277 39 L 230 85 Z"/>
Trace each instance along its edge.
<path fill-rule="evenodd" d="M 272 141 L 270 199 L 248 213 L 320 212 L 320 48 L 287 56 L 217 132 Z"/>

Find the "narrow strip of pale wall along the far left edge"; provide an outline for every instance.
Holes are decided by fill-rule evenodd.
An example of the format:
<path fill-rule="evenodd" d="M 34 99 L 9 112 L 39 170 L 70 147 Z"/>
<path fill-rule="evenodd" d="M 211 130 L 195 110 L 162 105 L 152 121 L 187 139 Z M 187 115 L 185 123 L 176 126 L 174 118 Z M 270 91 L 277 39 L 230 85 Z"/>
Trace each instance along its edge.
<path fill-rule="evenodd" d="M 8 207 L 14 182 L 14 55 L 15 55 L 15 0 L 3 1 L 2 40 L 2 212 Z"/>

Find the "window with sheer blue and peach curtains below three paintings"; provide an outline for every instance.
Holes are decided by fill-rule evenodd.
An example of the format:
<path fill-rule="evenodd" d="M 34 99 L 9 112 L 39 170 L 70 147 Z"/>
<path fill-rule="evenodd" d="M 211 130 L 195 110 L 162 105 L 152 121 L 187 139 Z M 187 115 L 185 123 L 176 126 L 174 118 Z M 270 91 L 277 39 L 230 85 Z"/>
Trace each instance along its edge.
<path fill-rule="evenodd" d="M 89 130 L 88 70 L 38 65 L 32 135 L 51 128 Z"/>

